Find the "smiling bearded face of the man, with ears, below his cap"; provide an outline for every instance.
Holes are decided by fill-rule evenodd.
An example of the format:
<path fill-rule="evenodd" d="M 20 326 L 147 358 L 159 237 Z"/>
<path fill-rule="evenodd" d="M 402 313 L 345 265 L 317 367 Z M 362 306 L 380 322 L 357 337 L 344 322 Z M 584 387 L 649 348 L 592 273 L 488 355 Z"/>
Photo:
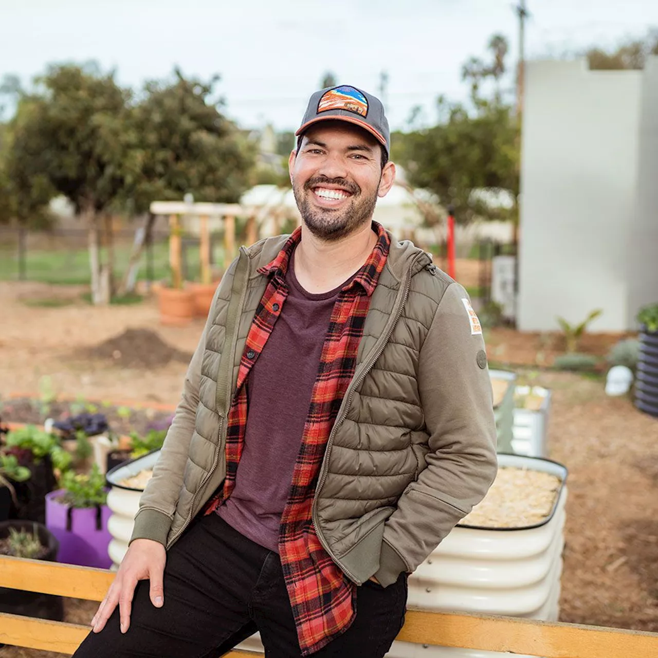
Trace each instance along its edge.
<path fill-rule="evenodd" d="M 395 165 L 382 170 L 379 142 L 345 121 L 326 120 L 305 132 L 290 155 L 297 207 L 318 238 L 336 241 L 372 220 L 377 197 L 390 190 Z"/>

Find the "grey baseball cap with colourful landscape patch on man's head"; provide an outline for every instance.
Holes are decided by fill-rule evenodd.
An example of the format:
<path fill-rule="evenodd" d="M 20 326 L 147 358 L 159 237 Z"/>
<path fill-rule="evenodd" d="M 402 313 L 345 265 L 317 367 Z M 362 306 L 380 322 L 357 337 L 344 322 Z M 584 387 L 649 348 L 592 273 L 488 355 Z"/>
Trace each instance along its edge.
<path fill-rule="evenodd" d="M 301 126 L 295 135 L 299 136 L 309 126 L 328 119 L 361 126 L 386 148 L 386 155 L 390 155 L 391 134 L 384 114 L 384 105 L 371 93 L 349 85 L 316 91 L 309 99 Z"/>

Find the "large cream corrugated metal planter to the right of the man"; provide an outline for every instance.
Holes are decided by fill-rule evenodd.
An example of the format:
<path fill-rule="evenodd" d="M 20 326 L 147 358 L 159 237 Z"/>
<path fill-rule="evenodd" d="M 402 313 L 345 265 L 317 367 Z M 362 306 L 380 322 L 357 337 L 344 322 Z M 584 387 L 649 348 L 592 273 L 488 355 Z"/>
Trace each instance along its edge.
<path fill-rule="evenodd" d="M 559 615 L 567 469 L 547 459 L 498 455 L 499 465 L 562 481 L 553 512 L 522 528 L 458 525 L 409 576 L 409 607 L 555 621 Z M 394 642 L 393 658 L 502 658 L 501 653 Z M 525 658 L 525 657 L 519 657 Z"/>

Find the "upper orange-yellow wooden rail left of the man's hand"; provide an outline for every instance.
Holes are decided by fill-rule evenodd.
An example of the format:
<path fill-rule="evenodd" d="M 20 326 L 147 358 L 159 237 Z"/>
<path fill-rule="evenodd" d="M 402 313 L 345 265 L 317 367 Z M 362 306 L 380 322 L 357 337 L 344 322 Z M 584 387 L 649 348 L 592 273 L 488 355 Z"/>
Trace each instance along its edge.
<path fill-rule="evenodd" d="M 113 580 L 114 573 L 105 569 L 26 560 L 8 555 L 0 558 L 0 587 L 14 590 L 102 601 Z"/>

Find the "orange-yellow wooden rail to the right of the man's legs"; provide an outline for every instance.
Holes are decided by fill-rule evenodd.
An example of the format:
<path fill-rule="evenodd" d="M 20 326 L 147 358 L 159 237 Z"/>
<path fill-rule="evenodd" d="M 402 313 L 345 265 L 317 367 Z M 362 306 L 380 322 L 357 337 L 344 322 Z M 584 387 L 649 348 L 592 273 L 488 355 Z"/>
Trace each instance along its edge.
<path fill-rule="evenodd" d="M 408 611 L 398 640 L 544 658 L 658 658 L 658 634 L 515 617 Z"/>

